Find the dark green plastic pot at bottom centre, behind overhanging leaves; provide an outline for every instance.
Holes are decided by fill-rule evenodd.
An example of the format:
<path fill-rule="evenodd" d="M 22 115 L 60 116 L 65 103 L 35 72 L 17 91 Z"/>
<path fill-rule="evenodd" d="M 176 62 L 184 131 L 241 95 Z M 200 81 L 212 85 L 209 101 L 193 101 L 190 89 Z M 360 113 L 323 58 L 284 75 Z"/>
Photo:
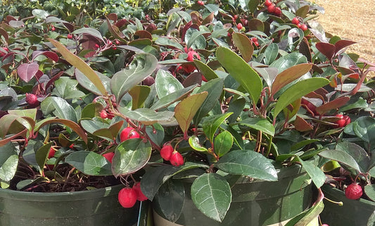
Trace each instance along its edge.
<path fill-rule="evenodd" d="M 185 184 L 185 202 L 179 219 L 172 223 L 163 218 L 153 203 L 155 226 L 265 226 L 284 225 L 312 204 L 312 184 L 300 166 L 283 168 L 279 181 L 238 182 L 232 188 L 232 203 L 223 222 L 211 220 L 201 213 L 190 197 L 190 185 Z M 281 223 L 281 224 L 279 224 Z"/>

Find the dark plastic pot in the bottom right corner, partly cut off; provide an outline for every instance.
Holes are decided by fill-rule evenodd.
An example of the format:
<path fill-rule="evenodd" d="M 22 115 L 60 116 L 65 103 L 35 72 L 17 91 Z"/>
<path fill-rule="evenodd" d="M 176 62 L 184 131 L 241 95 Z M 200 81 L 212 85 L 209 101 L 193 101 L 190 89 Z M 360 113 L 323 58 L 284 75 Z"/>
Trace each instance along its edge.
<path fill-rule="evenodd" d="M 323 223 L 329 226 L 365 226 L 368 225 L 370 217 L 374 218 L 375 216 L 375 202 L 373 201 L 347 199 L 343 191 L 328 184 L 324 184 L 322 191 L 327 199 L 343 202 L 343 206 L 338 206 L 336 203 L 324 200 L 324 210 L 320 214 L 320 218 Z"/>

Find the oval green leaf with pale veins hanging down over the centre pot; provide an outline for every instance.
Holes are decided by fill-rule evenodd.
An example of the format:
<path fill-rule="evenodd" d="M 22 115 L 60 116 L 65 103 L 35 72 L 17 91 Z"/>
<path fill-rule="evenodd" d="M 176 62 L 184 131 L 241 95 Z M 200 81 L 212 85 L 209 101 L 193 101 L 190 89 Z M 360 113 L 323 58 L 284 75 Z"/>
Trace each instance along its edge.
<path fill-rule="evenodd" d="M 208 218 L 222 222 L 231 204 L 231 187 L 224 177 L 205 173 L 191 185 L 191 199 Z"/>

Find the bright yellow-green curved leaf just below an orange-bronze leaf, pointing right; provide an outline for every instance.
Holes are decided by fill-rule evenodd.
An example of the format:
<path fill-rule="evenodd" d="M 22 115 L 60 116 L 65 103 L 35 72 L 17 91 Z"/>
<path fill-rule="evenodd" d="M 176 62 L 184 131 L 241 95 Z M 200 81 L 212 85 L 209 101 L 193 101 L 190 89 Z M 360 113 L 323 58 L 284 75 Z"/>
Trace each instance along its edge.
<path fill-rule="evenodd" d="M 274 118 L 276 118 L 276 116 L 283 111 L 288 104 L 293 103 L 296 99 L 299 99 L 314 90 L 324 87 L 326 84 L 329 84 L 329 80 L 324 77 L 312 77 L 293 84 L 286 89 L 277 100 L 274 108 Z"/>

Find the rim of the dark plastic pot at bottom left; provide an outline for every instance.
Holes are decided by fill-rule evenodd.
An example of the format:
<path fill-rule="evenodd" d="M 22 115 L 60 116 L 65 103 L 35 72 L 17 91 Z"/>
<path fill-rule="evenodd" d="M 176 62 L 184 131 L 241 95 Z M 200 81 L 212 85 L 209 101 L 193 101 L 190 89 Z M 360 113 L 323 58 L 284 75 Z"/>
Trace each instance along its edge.
<path fill-rule="evenodd" d="M 110 187 L 103 187 L 100 189 L 85 190 L 78 192 L 23 192 L 0 188 L 0 198 L 23 199 L 26 197 L 27 199 L 34 198 L 35 200 L 39 201 L 48 201 L 48 199 L 53 199 L 53 197 L 62 197 L 61 200 L 66 201 L 81 200 L 95 196 L 117 195 L 122 187 L 124 187 L 123 184 L 117 184 Z"/>

